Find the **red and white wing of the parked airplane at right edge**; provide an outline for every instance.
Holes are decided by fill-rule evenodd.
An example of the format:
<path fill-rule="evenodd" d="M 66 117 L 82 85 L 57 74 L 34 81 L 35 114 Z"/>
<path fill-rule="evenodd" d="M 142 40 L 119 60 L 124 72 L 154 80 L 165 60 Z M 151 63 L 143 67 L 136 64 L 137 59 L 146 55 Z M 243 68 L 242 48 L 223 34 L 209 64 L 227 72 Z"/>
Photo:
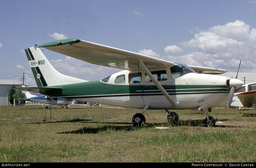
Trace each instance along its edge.
<path fill-rule="evenodd" d="M 244 107 L 254 107 L 256 105 L 256 90 L 237 94 Z"/>

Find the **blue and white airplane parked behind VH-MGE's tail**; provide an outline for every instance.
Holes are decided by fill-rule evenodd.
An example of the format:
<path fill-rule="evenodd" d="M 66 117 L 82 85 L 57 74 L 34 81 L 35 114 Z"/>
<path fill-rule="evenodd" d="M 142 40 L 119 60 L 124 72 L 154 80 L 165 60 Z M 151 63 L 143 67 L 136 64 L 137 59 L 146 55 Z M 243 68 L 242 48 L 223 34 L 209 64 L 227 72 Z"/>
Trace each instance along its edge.
<path fill-rule="evenodd" d="M 22 91 L 23 94 L 23 99 L 20 100 L 26 100 L 26 101 L 31 101 L 31 102 L 35 102 L 35 103 L 44 103 L 44 104 L 53 104 L 53 105 L 64 105 L 66 106 L 66 109 L 68 108 L 68 104 L 71 104 L 73 100 L 70 99 L 64 99 L 64 98 L 50 98 L 47 97 L 46 95 L 40 95 L 40 96 L 36 96 L 33 94 L 30 94 L 29 92 L 26 91 Z M 49 107 L 46 106 L 46 109 L 48 109 Z M 61 108 L 64 108 L 63 106 L 61 106 Z"/>

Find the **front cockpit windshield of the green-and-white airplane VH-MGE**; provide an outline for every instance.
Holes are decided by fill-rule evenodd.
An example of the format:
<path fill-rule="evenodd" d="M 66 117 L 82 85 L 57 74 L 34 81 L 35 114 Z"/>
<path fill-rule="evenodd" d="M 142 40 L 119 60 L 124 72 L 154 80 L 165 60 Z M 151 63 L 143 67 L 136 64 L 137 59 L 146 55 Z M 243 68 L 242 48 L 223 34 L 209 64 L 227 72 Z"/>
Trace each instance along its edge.
<path fill-rule="evenodd" d="M 171 70 L 173 79 L 176 79 L 188 73 L 197 73 L 196 71 L 191 69 L 189 66 L 184 64 L 177 64 L 177 63 L 174 63 L 174 66 L 170 67 L 170 70 Z"/>

